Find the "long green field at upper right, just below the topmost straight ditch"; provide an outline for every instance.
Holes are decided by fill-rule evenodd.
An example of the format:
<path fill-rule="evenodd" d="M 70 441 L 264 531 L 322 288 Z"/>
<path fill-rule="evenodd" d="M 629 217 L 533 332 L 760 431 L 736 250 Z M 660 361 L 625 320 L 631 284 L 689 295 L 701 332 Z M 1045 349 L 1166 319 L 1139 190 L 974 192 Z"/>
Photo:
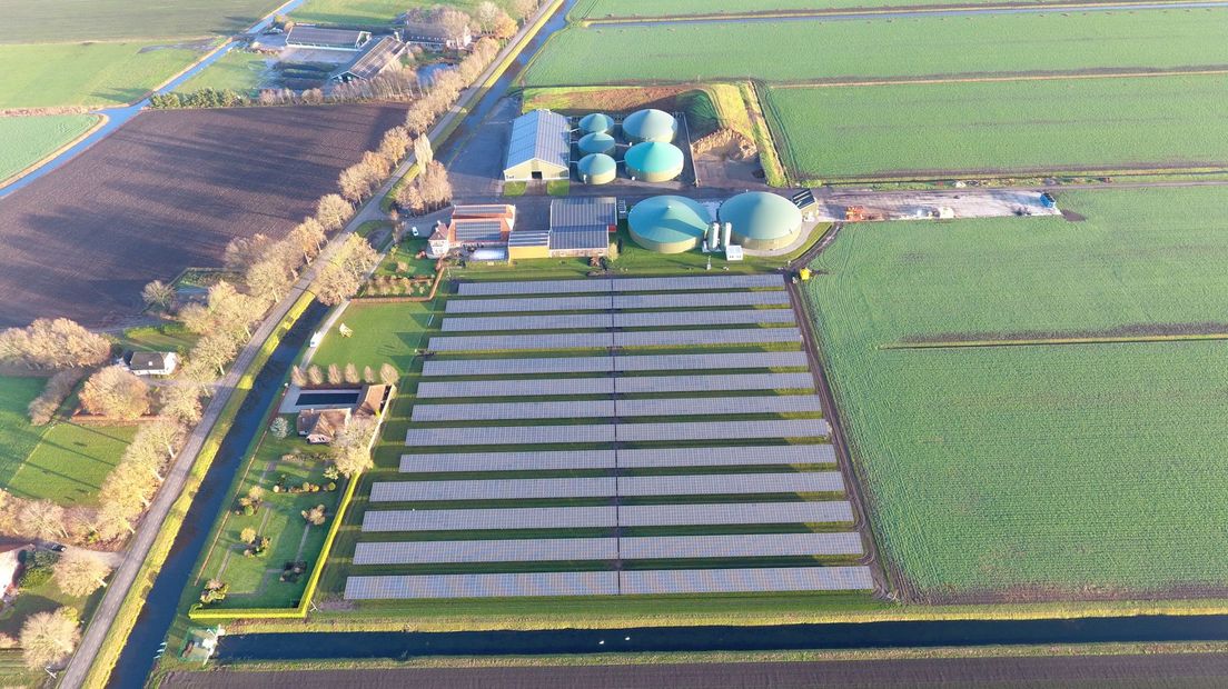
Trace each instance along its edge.
<path fill-rule="evenodd" d="M 1228 10 L 569 27 L 527 86 L 813 81 L 1228 64 Z M 1173 36 L 1180 36 L 1179 42 Z M 618 59 L 592 59 L 593 55 Z"/>

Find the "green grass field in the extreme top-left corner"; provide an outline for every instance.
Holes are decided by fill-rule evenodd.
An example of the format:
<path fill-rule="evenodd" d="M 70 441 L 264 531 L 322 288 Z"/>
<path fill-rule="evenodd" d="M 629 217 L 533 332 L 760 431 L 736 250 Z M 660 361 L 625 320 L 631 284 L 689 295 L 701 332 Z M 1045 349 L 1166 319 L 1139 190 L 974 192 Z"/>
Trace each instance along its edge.
<path fill-rule="evenodd" d="M 282 0 L 0 0 L 0 43 L 236 33 Z"/>

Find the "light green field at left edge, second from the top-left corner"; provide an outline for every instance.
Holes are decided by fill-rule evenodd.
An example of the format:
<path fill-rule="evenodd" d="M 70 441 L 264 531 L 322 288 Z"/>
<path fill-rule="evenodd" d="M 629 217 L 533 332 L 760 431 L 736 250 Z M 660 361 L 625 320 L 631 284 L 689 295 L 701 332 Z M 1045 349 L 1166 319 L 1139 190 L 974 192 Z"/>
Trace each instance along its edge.
<path fill-rule="evenodd" d="M 200 58 L 208 44 L 44 43 L 0 45 L 0 108 L 122 105 Z"/>

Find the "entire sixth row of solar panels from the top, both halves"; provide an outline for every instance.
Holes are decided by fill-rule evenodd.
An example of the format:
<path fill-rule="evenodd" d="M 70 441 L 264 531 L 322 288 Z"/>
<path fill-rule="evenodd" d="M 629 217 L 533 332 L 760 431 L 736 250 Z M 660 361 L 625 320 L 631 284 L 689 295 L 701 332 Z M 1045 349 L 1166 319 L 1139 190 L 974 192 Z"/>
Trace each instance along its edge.
<path fill-rule="evenodd" d="M 418 384 L 418 398 L 538 397 L 544 395 L 632 395 L 734 390 L 812 390 L 808 373 L 661 375 L 632 378 L 544 378 L 535 380 L 457 380 Z"/>

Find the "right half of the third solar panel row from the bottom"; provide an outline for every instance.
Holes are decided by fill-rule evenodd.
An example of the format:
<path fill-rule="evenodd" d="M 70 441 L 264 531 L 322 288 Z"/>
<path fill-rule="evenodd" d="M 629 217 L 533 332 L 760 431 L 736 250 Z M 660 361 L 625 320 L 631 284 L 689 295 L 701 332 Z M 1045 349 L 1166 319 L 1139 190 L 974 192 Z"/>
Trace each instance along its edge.
<path fill-rule="evenodd" d="M 367 516 L 370 517 L 372 514 L 381 512 L 367 512 Z M 731 523 L 835 523 L 851 521 L 852 506 L 840 500 L 825 503 L 621 505 L 618 511 L 619 526 L 722 526 Z M 367 531 L 366 521 L 362 523 L 362 530 Z"/>

